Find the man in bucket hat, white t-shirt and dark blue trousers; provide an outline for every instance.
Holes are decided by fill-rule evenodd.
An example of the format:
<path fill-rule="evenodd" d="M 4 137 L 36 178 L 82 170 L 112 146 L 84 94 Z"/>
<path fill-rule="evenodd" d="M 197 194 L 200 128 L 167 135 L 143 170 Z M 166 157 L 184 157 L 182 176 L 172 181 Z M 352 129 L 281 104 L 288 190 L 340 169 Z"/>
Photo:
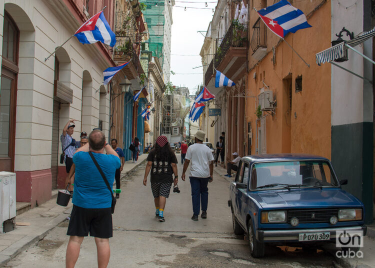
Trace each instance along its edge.
<path fill-rule="evenodd" d="M 190 185 L 192 199 L 192 220 L 198 220 L 200 203 L 202 207 L 201 218 L 207 217 L 208 182 L 212 181 L 213 155 L 211 149 L 203 144 L 205 133 L 198 130 L 195 133 L 195 143 L 187 148 L 183 163 L 182 180 L 185 180 L 185 172 L 191 161 Z"/>

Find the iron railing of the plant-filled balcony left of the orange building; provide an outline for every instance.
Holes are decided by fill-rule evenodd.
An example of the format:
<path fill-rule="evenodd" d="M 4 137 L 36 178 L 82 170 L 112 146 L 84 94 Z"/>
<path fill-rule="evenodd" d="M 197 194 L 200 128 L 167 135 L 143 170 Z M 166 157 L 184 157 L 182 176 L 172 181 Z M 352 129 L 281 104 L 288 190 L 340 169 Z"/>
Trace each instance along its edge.
<path fill-rule="evenodd" d="M 204 82 L 208 82 L 209 77 L 213 74 L 213 67 L 217 68 L 220 65 L 230 47 L 244 47 L 246 43 L 247 30 L 242 25 L 239 25 L 238 22 L 232 22 L 222 40 L 216 40 L 216 53 L 204 74 Z"/>

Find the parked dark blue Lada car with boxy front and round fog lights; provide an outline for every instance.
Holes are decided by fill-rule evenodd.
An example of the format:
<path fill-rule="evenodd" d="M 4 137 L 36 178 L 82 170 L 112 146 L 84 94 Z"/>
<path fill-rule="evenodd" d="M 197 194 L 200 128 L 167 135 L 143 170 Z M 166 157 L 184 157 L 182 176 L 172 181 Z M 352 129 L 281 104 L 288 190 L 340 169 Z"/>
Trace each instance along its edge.
<path fill-rule="evenodd" d="M 253 257 L 264 255 L 265 243 L 307 247 L 335 242 L 336 231 L 364 235 L 363 203 L 340 188 L 346 183 L 324 157 L 242 157 L 229 186 L 234 233 L 247 233 Z"/>

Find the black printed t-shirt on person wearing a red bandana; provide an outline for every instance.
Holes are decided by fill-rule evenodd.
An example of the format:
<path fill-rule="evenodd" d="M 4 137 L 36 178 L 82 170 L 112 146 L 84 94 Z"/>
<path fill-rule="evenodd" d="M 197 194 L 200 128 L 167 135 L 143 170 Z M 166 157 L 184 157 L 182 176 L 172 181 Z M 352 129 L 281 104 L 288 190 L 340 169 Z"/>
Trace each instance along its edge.
<path fill-rule="evenodd" d="M 169 155 L 165 161 L 158 161 L 155 155 L 155 149 L 152 149 L 147 156 L 147 161 L 152 161 L 151 182 L 172 182 L 173 170 L 171 163 L 177 163 L 174 152 Z"/>

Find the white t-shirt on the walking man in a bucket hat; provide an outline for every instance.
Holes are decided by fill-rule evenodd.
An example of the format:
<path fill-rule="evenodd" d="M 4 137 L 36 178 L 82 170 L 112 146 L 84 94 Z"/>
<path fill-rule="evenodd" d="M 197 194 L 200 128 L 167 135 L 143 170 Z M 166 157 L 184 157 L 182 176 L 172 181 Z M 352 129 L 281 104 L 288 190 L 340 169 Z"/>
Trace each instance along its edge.
<path fill-rule="evenodd" d="M 185 159 L 190 160 L 190 176 L 209 177 L 209 164 L 213 161 L 211 149 L 202 143 L 194 143 L 187 148 Z"/>

